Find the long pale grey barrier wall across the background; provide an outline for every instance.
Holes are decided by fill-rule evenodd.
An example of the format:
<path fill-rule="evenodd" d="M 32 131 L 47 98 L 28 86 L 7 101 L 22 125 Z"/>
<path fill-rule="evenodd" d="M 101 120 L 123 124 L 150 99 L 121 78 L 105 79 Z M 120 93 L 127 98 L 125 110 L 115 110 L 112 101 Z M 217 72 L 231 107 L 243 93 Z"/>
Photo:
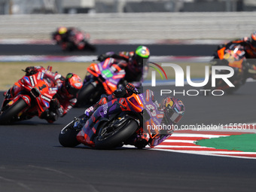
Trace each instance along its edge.
<path fill-rule="evenodd" d="M 1 15 L 0 38 L 50 39 L 75 26 L 92 39 L 230 39 L 254 32 L 256 12 Z"/>

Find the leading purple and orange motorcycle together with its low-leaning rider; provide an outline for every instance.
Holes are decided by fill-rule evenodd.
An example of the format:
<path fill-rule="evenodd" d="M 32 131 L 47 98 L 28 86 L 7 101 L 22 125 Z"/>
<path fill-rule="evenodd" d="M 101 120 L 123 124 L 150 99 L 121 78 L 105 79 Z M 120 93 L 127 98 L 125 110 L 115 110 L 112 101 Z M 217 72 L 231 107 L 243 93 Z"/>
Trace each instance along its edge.
<path fill-rule="evenodd" d="M 172 125 L 184 114 L 184 105 L 179 99 L 170 99 L 166 108 L 172 110 L 159 110 L 151 90 L 116 98 L 99 106 L 90 118 L 84 114 L 75 117 L 59 133 L 59 143 L 64 147 L 84 144 L 99 149 L 122 145 L 153 148 L 172 135 Z M 168 129 L 164 130 L 164 125 Z"/>

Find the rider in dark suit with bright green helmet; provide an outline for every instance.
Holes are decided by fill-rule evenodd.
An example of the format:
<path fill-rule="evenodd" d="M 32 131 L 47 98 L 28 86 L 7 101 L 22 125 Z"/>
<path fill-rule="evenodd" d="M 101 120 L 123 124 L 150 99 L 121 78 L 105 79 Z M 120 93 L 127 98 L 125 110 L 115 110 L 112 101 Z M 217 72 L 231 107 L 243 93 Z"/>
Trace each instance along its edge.
<path fill-rule="evenodd" d="M 143 79 L 148 75 L 149 56 L 148 47 L 139 46 L 135 51 L 122 51 L 118 54 L 114 52 L 101 54 L 98 56 L 98 60 L 102 62 L 109 57 L 114 58 L 117 66 L 126 72 L 124 81 L 134 84 L 135 87 L 140 87 L 142 86 Z"/>

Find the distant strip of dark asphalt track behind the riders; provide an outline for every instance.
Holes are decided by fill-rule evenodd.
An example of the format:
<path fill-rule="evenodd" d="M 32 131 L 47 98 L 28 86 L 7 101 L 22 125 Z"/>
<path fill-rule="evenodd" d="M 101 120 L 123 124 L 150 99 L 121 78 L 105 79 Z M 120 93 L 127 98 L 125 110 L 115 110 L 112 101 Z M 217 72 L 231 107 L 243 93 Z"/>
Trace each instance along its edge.
<path fill-rule="evenodd" d="M 140 44 L 96 44 L 96 52 L 91 51 L 62 51 L 59 46 L 52 44 L 0 44 L 1 55 L 98 55 L 108 51 L 118 53 L 121 50 L 132 51 Z M 154 56 L 211 56 L 217 45 L 215 44 L 145 44 Z"/>

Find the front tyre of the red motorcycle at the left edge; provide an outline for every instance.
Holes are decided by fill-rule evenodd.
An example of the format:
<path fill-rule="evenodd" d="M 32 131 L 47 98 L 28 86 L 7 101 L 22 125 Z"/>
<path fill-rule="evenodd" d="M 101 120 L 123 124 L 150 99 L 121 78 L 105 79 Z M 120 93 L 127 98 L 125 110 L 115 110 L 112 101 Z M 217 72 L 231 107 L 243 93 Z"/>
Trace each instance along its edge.
<path fill-rule="evenodd" d="M 8 124 L 11 122 L 13 117 L 16 117 L 20 111 L 26 108 L 27 104 L 23 99 L 17 100 L 14 105 L 11 105 L 5 111 L 0 114 L 0 124 Z"/>

